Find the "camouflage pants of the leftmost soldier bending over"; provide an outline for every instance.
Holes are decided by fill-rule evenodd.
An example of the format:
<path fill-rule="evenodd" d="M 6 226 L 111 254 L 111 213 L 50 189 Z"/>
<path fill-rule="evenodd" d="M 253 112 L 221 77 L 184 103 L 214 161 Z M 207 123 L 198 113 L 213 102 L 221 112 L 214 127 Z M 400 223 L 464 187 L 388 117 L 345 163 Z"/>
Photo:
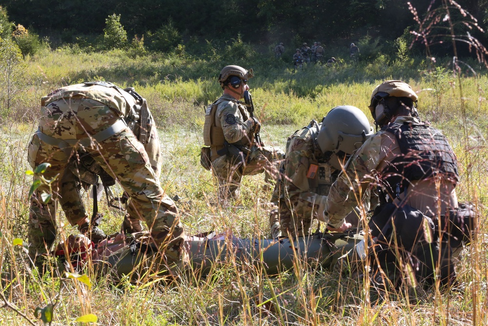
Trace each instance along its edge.
<path fill-rule="evenodd" d="M 61 99 L 56 102 L 57 109 L 61 108 L 65 112 L 70 112 L 72 107 L 80 105 L 76 104 L 76 100 Z M 53 130 L 65 131 L 74 128 L 80 130 L 86 128 L 85 125 L 96 125 L 97 119 L 93 118 L 96 116 L 95 111 L 100 111 L 101 108 L 107 112 L 111 110 L 94 100 L 83 99 L 82 102 L 84 108 L 82 116 L 81 114 L 63 114 L 62 118 L 52 121 L 52 125 L 56 127 Z M 90 113 L 91 111 L 94 112 Z M 90 119 L 90 117 L 92 118 Z M 47 118 L 44 118 L 48 121 L 50 117 L 48 115 Z M 53 130 L 43 128 L 42 132 L 56 139 L 67 139 L 63 138 L 62 132 L 54 132 Z M 78 139 L 81 140 L 82 137 Z M 90 147 L 83 148 L 83 152 L 89 153 L 103 170 L 117 178 L 124 191 L 131 198 L 130 212 L 134 215 L 133 218 L 143 220 L 147 224 L 154 242 L 160 246 L 168 263 L 180 264 L 183 258 L 184 232 L 179 211 L 156 180 L 147 153 L 132 131 L 125 128 L 101 142 L 92 142 Z M 29 162 L 33 168 L 43 162 L 51 164 L 51 167 L 43 174 L 44 178 L 52 179 L 58 173 L 62 173 L 61 177 L 58 176 L 51 185 L 52 189 L 41 186 L 31 198 L 29 214 L 31 246 L 29 247 L 29 254 L 32 258 L 45 253 L 46 249 L 49 250 L 56 238 L 57 199 L 60 197 L 76 198 L 76 195 L 73 195 L 74 193 L 63 193 L 66 190 L 72 190 L 73 187 L 61 187 L 61 180 L 68 171 L 66 167 L 70 155 L 57 145 L 41 141 L 37 134 L 34 135 L 29 145 Z M 42 203 L 40 200 L 42 191 L 51 193 L 53 200 Z M 63 201 L 66 200 L 61 199 L 61 203 Z"/>

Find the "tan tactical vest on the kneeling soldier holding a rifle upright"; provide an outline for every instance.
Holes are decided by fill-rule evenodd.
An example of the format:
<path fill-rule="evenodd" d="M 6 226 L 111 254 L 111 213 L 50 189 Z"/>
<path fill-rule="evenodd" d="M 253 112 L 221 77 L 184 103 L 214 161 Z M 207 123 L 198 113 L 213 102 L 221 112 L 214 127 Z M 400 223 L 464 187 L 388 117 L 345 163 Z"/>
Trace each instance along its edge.
<path fill-rule="evenodd" d="M 223 101 L 231 100 L 219 98 L 205 109 L 205 122 L 203 124 L 203 144 L 205 146 L 210 146 L 210 161 L 214 161 L 216 158 L 220 157 L 221 155 L 219 155 L 217 151 L 224 148 L 224 130 L 222 129 L 220 120 L 216 118 L 217 108 L 219 104 Z M 247 116 L 247 112 L 240 105 L 238 105 L 237 107 L 241 112 L 244 121 L 246 121 L 249 118 Z"/>

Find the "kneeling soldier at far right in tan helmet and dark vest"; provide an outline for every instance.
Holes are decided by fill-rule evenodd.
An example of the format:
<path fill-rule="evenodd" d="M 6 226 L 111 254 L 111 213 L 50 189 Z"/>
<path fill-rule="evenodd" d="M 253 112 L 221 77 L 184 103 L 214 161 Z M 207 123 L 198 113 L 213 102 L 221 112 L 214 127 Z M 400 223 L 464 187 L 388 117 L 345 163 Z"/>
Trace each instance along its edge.
<path fill-rule="evenodd" d="M 345 214 L 367 198 L 370 186 L 376 187 L 380 205 L 369 230 L 373 230 L 372 241 L 381 238 L 381 242 L 369 253 L 377 255 L 370 259 L 371 282 L 381 289 L 408 279 L 402 276 L 407 263 L 413 264 L 411 271 L 418 282 L 437 278 L 451 283 L 451 250 L 462 247 L 476 225 L 472 222 L 475 214 L 457 210 L 456 155 L 439 130 L 418 118 L 416 102 L 417 94 L 402 81 L 385 81 L 374 89 L 369 109 L 381 130 L 353 154 L 325 201 L 328 229 L 344 231 L 350 227 Z M 462 236 L 451 239 L 441 231 L 446 225 L 451 232 L 460 230 Z M 361 251 L 365 253 L 364 245 Z"/>

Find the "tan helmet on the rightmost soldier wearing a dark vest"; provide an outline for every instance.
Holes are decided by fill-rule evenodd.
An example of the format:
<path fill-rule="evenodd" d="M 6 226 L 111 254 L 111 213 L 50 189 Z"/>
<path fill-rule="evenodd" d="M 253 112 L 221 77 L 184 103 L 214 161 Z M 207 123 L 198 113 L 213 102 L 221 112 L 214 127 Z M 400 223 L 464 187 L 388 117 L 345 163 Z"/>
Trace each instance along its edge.
<path fill-rule="evenodd" d="M 389 96 L 394 97 L 407 97 L 412 100 L 415 104 L 414 107 L 411 109 L 410 113 L 412 116 L 418 116 L 418 112 L 415 109 L 417 104 L 417 99 L 419 98 L 417 94 L 413 91 L 412 87 L 401 80 L 387 80 L 378 85 L 373 92 L 371 93 L 371 97 L 369 99 L 369 111 L 371 112 L 371 116 L 376 121 L 376 106 L 378 103 Z M 381 125 L 381 124 L 380 124 Z"/>

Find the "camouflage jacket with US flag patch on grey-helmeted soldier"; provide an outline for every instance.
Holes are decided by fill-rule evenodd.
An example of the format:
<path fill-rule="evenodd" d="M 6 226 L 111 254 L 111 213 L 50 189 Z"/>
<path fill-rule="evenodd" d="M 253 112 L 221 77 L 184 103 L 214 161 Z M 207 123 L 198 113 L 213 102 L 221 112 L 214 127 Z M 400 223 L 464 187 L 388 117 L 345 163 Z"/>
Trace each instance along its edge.
<path fill-rule="evenodd" d="M 312 121 L 288 137 L 285 163 L 271 199 L 274 204 L 279 200 L 280 209 L 286 208 L 298 217 L 317 216 L 317 210 L 319 206 L 324 207 L 329 187 L 338 174 L 324 160 L 316 142 L 320 126 Z M 318 170 L 313 173 L 315 167 Z"/>

